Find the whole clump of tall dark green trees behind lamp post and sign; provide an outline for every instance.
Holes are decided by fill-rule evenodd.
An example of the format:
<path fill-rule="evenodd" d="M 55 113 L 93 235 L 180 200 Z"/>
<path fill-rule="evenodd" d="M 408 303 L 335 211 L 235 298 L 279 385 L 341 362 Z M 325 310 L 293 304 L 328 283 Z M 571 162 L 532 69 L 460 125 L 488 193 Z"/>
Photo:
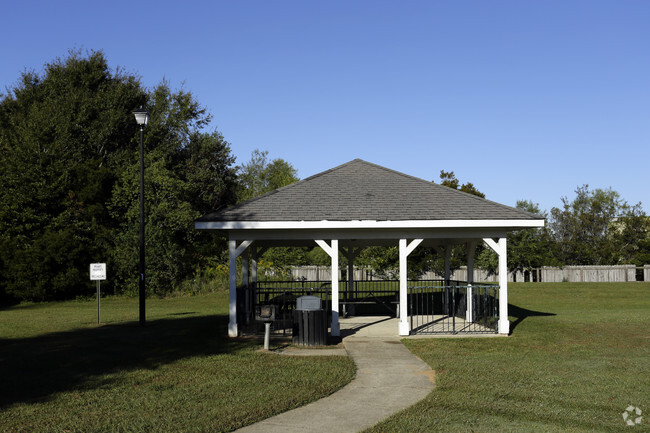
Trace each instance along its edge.
<path fill-rule="evenodd" d="M 72 52 L 28 72 L 0 100 L 0 292 L 18 299 L 84 295 L 90 262 L 107 286 L 137 284 L 138 134 L 145 105 L 147 264 L 165 291 L 204 256 L 193 219 L 235 201 L 228 143 L 203 132 L 194 97 L 152 91 L 102 52 Z M 179 254 L 180 253 L 180 254 Z M 134 255 L 135 254 L 135 255 Z"/>

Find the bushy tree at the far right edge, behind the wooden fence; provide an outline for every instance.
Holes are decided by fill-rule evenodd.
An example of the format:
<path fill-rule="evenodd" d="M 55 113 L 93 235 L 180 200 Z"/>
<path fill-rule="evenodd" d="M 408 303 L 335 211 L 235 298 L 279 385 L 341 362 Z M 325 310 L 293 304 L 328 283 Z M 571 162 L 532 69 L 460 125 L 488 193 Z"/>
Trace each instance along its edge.
<path fill-rule="evenodd" d="M 576 189 L 562 208 L 553 208 L 549 228 L 565 265 L 611 265 L 632 260 L 633 251 L 647 236 L 647 218 L 641 204 L 630 206 L 611 188 Z"/>

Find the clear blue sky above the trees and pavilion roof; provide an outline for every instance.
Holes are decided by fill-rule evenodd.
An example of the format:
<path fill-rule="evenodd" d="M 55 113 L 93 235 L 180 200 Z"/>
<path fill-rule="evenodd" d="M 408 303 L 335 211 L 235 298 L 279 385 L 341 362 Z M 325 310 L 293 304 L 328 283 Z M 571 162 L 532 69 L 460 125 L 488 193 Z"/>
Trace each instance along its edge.
<path fill-rule="evenodd" d="M 650 211 L 650 1 L 6 2 L 0 85 L 69 49 L 184 83 L 237 162 L 354 158 L 487 198 Z"/>

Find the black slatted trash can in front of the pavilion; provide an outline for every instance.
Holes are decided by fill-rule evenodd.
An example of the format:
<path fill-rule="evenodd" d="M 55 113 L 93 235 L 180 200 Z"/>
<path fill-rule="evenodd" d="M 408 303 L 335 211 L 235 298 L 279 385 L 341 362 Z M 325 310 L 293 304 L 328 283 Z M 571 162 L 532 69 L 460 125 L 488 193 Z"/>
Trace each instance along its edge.
<path fill-rule="evenodd" d="M 293 310 L 293 344 L 324 346 L 327 344 L 327 311 L 317 296 L 301 296 Z"/>

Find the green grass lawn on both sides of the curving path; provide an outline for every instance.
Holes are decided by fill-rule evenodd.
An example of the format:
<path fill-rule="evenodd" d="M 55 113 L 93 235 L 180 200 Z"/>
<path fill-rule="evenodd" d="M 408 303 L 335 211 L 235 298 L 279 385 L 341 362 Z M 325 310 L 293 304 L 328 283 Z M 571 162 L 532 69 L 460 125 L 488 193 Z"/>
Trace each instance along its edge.
<path fill-rule="evenodd" d="M 405 340 L 436 389 L 369 432 L 648 431 L 650 285 L 511 284 L 508 338 Z M 0 310 L 0 431 L 228 431 L 339 389 L 343 357 L 225 338 L 227 294 Z M 644 411 L 626 428 L 628 405 Z"/>

